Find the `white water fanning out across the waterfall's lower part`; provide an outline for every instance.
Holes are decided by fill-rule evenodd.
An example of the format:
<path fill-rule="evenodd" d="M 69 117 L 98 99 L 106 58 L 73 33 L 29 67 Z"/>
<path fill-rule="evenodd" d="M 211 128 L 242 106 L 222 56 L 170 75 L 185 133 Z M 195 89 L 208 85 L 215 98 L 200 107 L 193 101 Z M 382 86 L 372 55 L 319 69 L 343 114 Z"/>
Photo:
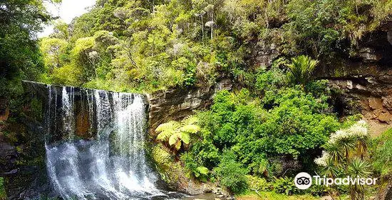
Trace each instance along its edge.
<path fill-rule="evenodd" d="M 100 141 L 73 141 L 46 146 L 53 196 L 63 199 L 173 199 L 181 194 L 155 184 L 152 170 L 138 171 L 126 157 L 103 151 Z"/>

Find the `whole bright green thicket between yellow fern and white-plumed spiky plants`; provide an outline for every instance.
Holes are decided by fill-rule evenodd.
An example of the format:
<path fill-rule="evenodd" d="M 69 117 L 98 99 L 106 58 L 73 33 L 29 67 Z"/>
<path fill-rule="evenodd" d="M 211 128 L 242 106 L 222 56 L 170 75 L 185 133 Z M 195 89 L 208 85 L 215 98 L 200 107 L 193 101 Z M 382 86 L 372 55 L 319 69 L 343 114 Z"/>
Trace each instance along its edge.
<path fill-rule="evenodd" d="M 189 151 L 181 156 L 185 168 L 191 174 L 197 168 L 207 168 L 212 174 L 200 180 L 217 178 L 237 193 L 244 191 L 250 180 L 259 185 L 251 188 L 296 193 L 295 186 L 285 184 L 292 179 L 274 177 L 284 176 L 290 168 L 294 171 L 286 175 L 300 169 L 314 170 L 313 160 L 321 153 L 321 146 L 341 124 L 327 103 L 330 93 L 324 81 L 309 80 L 305 86 L 276 81 L 296 76 L 288 74 L 290 71 L 286 74 L 275 64 L 271 70 L 254 75 L 254 92 L 218 92 L 210 110 L 197 113 L 201 129 L 192 136 Z M 275 185 L 264 184 L 258 177 Z"/>

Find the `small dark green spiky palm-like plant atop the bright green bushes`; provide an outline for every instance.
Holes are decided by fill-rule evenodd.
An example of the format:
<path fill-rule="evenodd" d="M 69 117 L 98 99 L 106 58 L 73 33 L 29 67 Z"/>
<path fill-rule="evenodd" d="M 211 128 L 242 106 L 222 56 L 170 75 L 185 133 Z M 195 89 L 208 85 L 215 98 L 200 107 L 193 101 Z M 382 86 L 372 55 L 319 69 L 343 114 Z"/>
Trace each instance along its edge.
<path fill-rule="evenodd" d="M 312 79 L 312 74 L 319 61 L 311 59 L 309 56 L 297 56 L 292 59 L 292 64 L 289 64 L 289 74 L 287 78 L 293 84 L 301 84 L 305 86 Z"/>

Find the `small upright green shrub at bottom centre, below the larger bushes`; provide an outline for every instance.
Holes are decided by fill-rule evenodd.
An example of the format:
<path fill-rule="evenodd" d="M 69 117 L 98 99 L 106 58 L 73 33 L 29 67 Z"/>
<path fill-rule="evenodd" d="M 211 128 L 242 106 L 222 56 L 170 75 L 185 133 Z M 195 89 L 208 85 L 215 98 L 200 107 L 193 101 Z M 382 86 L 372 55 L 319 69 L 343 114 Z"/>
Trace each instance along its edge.
<path fill-rule="evenodd" d="M 231 151 L 225 151 L 221 163 L 215 168 L 218 179 L 222 186 L 227 187 L 234 194 L 241 194 L 247 190 L 247 169 L 234 160 Z"/>

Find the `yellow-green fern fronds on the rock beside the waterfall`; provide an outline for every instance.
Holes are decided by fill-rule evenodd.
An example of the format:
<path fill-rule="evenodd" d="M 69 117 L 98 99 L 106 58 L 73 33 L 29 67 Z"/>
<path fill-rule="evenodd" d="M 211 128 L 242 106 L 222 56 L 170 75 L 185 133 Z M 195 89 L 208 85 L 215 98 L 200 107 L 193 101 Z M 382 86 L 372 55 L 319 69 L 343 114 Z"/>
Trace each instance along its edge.
<path fill-rule="evenodd" d="M 174 146 L 176 150 L 180 150 L 182 143 L 190 143 L 190 134 L 195 134 L 200 130 L 200 126 L 197 126 L 196 123 L 196 116 L 187 116 L 181 122 L 169 121 L 160 124 L 155 129 L 159 133 L 157 139 L 167 141 L 169 146 Z"/>

